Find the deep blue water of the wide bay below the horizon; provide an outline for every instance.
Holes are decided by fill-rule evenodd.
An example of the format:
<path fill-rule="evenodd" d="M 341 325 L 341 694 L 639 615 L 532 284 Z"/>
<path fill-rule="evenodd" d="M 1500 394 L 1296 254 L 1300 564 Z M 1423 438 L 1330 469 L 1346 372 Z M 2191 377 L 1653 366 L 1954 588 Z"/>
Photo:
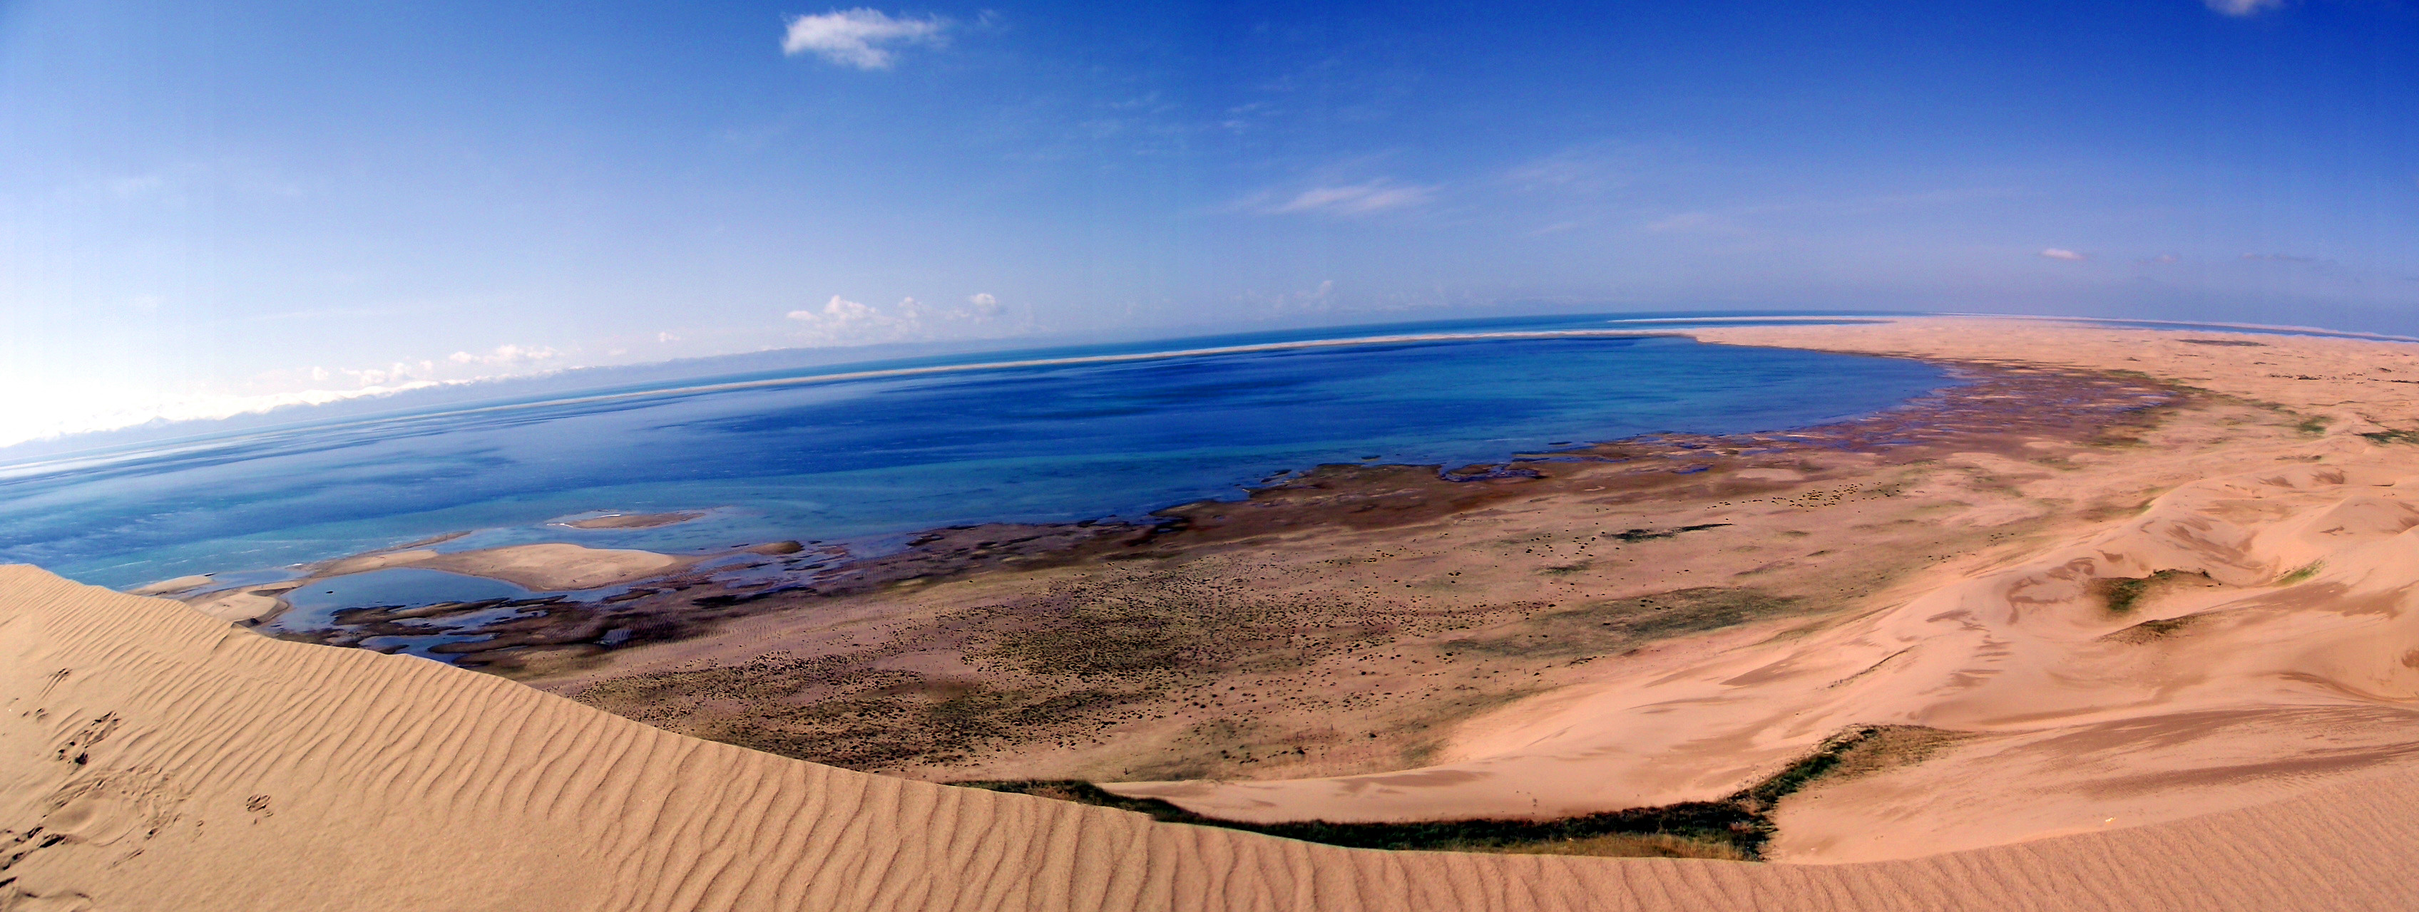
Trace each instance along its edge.
<path fill-rule="evenodd" d="M 1451 327 L 1502 329 L 1616 324 Z M 1318 334 L 958 360 L 1130 358 L 1304 336 Z M 803 382 L 837 370 L 849 368 L 7 467 L 0 561 L 138 585 L 269 573 L 457 530 L 477 532 L 445 549 L 539 539 L 668 552 L 769 539 L 878 547 L 936 525 L 1135 518 L 1241 496 L 1246 484 L 1321 462 L 1468 464 L 1662 431 L 1797 428 L 1950 382 L 1911 360 L 1664 336 L 1398 339 Z M 709 515 L 658 530 L 549 525 L 597 510 Z"/>

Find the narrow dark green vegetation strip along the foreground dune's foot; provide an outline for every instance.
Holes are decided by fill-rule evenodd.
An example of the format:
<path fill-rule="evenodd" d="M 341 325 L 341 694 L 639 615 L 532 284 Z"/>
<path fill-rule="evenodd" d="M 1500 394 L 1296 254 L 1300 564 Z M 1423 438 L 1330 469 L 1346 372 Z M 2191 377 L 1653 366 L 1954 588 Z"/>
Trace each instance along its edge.
<path fill-rule="evenodd" d="M 1418 822 L 1243 822 L 1200 815 L 1159 798 L 1127 798 L 1081 779 L 985 779 L 956 786 L 1011 791 L 1118 808 L 1159 822 L 1188 822 L 1260 832 L 1270 837 L 1345 849 L 1396 852 L 1502 852 L 1502 854 L 1601 854 L 1662 859 L 1759 861 L 1771 842 L 1780 798 L 1824 779 L 1853 779 L 1921 762 L 1962 735 L 1921 726 L 1855 726 L 1831 735 L 1814 752 L 1720 801 L 1684 801 L 1560 820 L 1418 820 Z"/>

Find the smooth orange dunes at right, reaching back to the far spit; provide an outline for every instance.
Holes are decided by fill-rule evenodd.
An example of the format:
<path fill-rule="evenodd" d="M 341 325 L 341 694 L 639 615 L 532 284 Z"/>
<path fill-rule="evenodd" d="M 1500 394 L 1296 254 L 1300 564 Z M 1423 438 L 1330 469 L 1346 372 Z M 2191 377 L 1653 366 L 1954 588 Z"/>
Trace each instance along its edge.
<path fill-rule="evenodd" d="M 1822 629 L 1732 629 L 1606 665 L 1594 682 L 1463 726 L 1454 762 L 1115 791 L 1246 820 L 1568 815 L 1717 798 L 1848 726 L 1964 735 L 1783 803 L 1771 856 L 1870 861 L 2419 769 L 2419 448 L 2361 435 L 2419 419 L 2419 387 L 2404 382 L 2419 380 L 2412 346 L 1971 319 L 1703 336 L 1967 360 L 2017 351 L 2182 377 L 2332 423 L 2303 440 L 2066 469 L 2027 496 L 2092 503 L 2153 477 L 2165 493 L 1996 566 L 1923 573 Z M 2160 571 L 2182 578 L 2129 612 L 2107 610 L 2107 581 Z"/>

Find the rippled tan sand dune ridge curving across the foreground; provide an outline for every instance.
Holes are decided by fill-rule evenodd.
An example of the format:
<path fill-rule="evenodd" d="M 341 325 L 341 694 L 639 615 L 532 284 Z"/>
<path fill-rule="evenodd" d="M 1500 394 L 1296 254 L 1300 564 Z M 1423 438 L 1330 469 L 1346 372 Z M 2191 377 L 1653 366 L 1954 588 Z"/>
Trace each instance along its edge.
<path fill-rule="evenodd" d="M 0 568 L 0 910 L 2349 910 L 2419 774 L 1778 866 L 1389 854 L 866 777 Z"/>

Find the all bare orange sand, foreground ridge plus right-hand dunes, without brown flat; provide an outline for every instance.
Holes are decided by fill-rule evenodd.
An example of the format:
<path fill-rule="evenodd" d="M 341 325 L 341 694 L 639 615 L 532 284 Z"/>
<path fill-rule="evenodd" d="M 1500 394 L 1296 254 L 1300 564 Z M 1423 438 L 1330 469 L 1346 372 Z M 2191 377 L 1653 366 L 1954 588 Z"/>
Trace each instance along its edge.
<path fill-rule="evenodd" d="M 1555 815 L 1727 793 L 1846 726 L 1909 726 L 1894 731 L 1918 748 L 1780 803 L 1768 856 L 1814 864 L 1359 852 L 1161 825 L 694 740 L 10 566 L 0 910 L 2419 905 L 2407 346 L 1938 319 L 1708 336 L 2025 351 L 2329 421 L 2034 467 L 2034 510 L 2158 493 L 1812 624 L 1584 665 L 1601 675 L 1466 723 L 1437 767 L 1118 786 L 1253 820 Z"/>

